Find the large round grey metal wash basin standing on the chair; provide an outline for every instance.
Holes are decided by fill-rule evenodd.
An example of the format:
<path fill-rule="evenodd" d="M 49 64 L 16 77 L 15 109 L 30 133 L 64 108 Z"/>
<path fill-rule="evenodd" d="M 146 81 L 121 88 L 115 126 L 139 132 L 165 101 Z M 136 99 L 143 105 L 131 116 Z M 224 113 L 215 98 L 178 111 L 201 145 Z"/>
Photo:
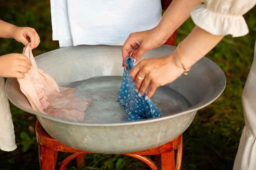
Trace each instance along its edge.
<path fill-rule="evenodd" d="M 146 52 L 144 58 L 160 57 L 174 49 L 174 46 L 163 45 Z M 72 85 L 72 82 L 97 76 L 123 74 L 121 46 L 72 46 L 40 54 L 35 59 L 38 68 L 50 74 L 60 86 L 69 83 Z M 18 108 L 35 114 L 45 131 L 59 142 L 94 153 L 119 154 L 146 150 L 175 139 L 189 127 L 199 109 L 220 96 L 225 85 L 226 78 L 221 68 L 204 57 L 193 65 L 188 76 L 180 76 L 165 86 L 181 94 L 190 103 L 189 108 L 180 111 L 174 109 L 160 118 L 136 122 L 104 122 L 105 118 L 99 122 L 75 122 L 37 113 L 31 109 L 29 102 L 20 92 L 16 78 L 7 79 L 6 93 Z M 118 90 L 119 88 L 117 92 Z M 157 97 L 154 100 L 157 102 L 160 99 L 161 97 Z M 104 101 L 107 101 L 107 98 Z M 171 102 L 169 104 L 173 105 Z M 108 112 L 106 110 L 104 111 Z M 101 114 L 96 112 L 95 114 L 101 117 Z M 110 119 L 111 116 L 110 114 Z"/>

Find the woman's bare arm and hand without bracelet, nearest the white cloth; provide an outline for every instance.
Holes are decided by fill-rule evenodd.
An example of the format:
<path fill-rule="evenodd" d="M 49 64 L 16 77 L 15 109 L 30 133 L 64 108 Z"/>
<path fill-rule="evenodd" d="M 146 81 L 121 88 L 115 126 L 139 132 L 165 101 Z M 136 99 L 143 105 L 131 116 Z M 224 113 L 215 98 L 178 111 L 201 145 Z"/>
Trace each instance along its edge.
<path fill-rule="evenodd" d="M 133 51 L 132 58 L 139 61 L 145 52 L 164 44 L 187 20 L 191 10 L 201 3 L 200 0 L 173 0 L 155 28 L 131 33 L 122 47 L 123 66 L 134 48 L 136 50 Z"/>

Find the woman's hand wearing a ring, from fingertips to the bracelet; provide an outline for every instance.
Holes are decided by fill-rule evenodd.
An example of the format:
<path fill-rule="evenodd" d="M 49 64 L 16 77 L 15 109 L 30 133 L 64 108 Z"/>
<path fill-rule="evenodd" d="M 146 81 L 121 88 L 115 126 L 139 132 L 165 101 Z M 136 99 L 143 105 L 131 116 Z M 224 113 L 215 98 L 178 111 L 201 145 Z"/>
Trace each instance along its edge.
<path fill-rule="evenodd" d="M 164 57 L 141 60 L 130 70 L 130 76 L 135 81 L 139 96 L 143 96 L 148 89 L 146 94 L 146 99 L 148 99 L 157 87 L 171 83 L 183 72 L 182 65 L 177 61 L 177 56 L 173 52 Z"/>

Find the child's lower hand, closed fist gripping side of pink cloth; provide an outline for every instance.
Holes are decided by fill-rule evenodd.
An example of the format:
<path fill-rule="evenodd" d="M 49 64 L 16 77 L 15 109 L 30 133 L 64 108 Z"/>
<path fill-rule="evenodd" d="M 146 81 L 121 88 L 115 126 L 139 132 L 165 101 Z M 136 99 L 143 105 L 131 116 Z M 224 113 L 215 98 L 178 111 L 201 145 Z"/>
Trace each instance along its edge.
<path fill-rule="evenodd" d="M 24 78 L 25 73 L 30 70 L 29 59 L 18 53 L 0 56 L 0 76 Z"/>

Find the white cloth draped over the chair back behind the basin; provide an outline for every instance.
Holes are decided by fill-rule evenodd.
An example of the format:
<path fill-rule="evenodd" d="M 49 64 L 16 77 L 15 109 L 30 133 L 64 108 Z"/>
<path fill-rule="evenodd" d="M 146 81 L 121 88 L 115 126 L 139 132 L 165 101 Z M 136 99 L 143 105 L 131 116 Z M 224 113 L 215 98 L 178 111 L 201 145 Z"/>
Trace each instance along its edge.
<path fill-rule="evenodd" d="M 52 39 L 60 47 L 123 45 L 162 18 L 161 0 L 50 0 Z"/>

